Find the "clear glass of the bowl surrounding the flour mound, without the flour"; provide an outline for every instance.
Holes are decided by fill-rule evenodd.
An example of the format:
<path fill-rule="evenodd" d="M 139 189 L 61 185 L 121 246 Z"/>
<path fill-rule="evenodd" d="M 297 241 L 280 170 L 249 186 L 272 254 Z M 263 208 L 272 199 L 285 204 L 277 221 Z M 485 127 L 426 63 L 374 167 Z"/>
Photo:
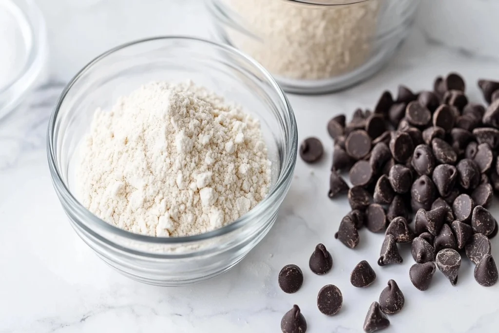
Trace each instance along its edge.
<path fill-rule="evenodd" d="M 272 162 L 268 195 L 234 223 L 197 236 L 138 235 L 97 218 L 78 202 L 71 179 L 78 163 L 76 148 L 95 109 L 109 109 L 118 96 L 149 81 L 186 79 L 237 101 L 260 120 Z M 243 259 L 275 222 L 289 189 L 296 151 L 293 111 L 263 67 L 232 47 L 175 36 L 125 44 L 91 61 L 59 97 L 47 135 L 52 182 L 76 233 L 120 273 L 161 286 L 202 281 Z"/>

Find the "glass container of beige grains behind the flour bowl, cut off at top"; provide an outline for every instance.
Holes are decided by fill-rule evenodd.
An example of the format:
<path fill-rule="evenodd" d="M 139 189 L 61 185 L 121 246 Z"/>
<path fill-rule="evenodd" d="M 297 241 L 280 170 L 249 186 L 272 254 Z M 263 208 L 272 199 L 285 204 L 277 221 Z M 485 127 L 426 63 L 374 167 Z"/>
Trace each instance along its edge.
<path fill-rule="evenodd" d="M 215 38 L 260 62 L 284 90 L 340 90 L 376 73 L 420 0 L 207 0 Z"/>

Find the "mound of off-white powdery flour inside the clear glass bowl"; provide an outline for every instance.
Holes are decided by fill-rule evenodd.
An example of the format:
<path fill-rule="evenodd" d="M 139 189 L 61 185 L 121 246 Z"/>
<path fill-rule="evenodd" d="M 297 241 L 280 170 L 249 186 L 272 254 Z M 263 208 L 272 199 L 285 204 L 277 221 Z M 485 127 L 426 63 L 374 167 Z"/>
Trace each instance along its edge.
<path fill-rule="evenodd" d="M 150 236 L 218 229 L 270 186 L 259 121 L 192 83 L 150 83 L 98 109 L 81 154 L 83 205 Z"/>

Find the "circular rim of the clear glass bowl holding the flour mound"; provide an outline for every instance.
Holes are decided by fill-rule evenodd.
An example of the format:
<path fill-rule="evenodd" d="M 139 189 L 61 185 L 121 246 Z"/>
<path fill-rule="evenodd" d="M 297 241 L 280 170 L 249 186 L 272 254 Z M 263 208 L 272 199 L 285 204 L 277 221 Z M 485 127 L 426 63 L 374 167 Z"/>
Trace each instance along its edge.
<path fill-rule="evenodd" d="M 219 48 L 223 51 L 227 51 L 231 53 L 232 55 L 235 55 L 247 62 L 250 63 L 254 68 L 256 68 L 260 74 L 263 74 L 265 80 L 267 80 L 274 92 L 277 93 L 279 100 L 283 103 L 284 105 L 284 112 L 285 112 L 285 123 L 289 127 L 288 130 L 290 132 L 290 140 L 287 149 L 287 155 L 288 158 L 282 162 L 279 176 L 274 184 L 274 186 L 271 188 L 269 193 L 263 200 L 261 200 L 253 209 L 251 209 L 248 213 L 237 219 L 236 221 L 230 223 L 227 226 L 224 226 L 220 229 L 213 230 L 207 233 L 202 233 L 199 235 L 194 235 L 194 236 L 184 236 L 184 237 L 157 237 L 157 236 L 148 236 L 148 235 L 142 235 L 142 234 L 135 234 L 132 232 L 129 232 L 124 229 L 120 229 L 118 227 L 115 227 L 104 220 L 98 218 L 94 214 L 92 214 L 89 210 L 87 210 L 76 198 L 75 196 L 71 193 L 69 188 L 66 186 L 65 182 L 62 180 L 61 173 L 57 167 L 56 164 L 56 157 L 55 157 L 55 149 L 54 149 L 54 132 L 55 132 L 55 125 L 56 121 L 58 119 L 58 114 L 59 110 L 61 107 L 62 102 L 64 101 L 67 93 L 71 90 L 72 86 L 75 84 L 76 81 L 79 80 L 79 78 L 85 74 L 87 71 L 89 71 L 93 65 L 98 63 L 100 60 L 104 59 L 108 55 L 111 55 L 115 52 L 118 52 L 122 49 L 125 49 L 127 47 L 133 47 L 142 43 L 147 43 L 151 41 L 160 41 L 160 40 L 180 40 L 180 41 L 187 41 L 187 42 L 195 42 L 195 43 L 203 43 L 206 45 L 209 45 L 211 47 Z M 144 39 L 138 39 L 134 40 L 128 43 L 124 43 L 121 45 L 118 45 L 114 48 L 111 48 L 104 53 L 98 55 L 94 59 L 92 59 L 90 62 L 88 62 L 81 70 L 79 70 L 75 76 L 69 81 L 69 83 L 64 87 L 64 90 L 61 92 L 60 96 L 57 99 L 57 102 L 55 103 L 54 109 L 52 111 L 52 114 L 50 115 L 50 119 L 48 122 L 48 129 L 47 129 L 47 158 L 48 158 L 48 165 L 50 169 L 50 175 L 52 178 L 52 182 L 54 185 L 54 188 L 60 196 L 64 199 L 65 202 L 62 202 L 62 198 L 60 198 L 60 201 L 63 205 L 70 205 L 72 208 L 79 213 L 79 216 L 83 217 L 85 221 L 89 222 L 89 225 L 84 225 L 85 227 L 89 228 L 91 231 L 96 233 L 97 235 L 100 235 L 100 233 L 96 232 L 92 227 L 99 227 L 104 229 L 105 231 L 111 232 L 115 234 L 116 236 L 123 237 L 129 240 L 133 241 L 138 241 L 138 242 L 145 242 L 145 243 L 154 243 L 154 244 L 166 244 L 166 245 L 171 245 L 171 244 L 180 244 L 180 243 L 194 243 L 194 242 L 199 242 L 199 241 L 204 241 L 204 240 L 210 240 L 219 236 L 226 235 L 234 230 L 240 229 L 247 224 L 249 224 L 251 221 L 253 221 L 254 217 L 259 216 L 260 214 L 265 212 L 265 208 L 269 205 L 271 205 L 276 199 L 282 195 L 280 193 L 280 189 L 282 186 L 286 185 L 286 182 L 288 179 L 292 177 L 295 163 L 296 163 L 296 156 L 297 156 L 297 142 L 298 142 L 298 134 L 297 134 L 297 126 L 296 126 L 296 119 L 294 117 L 294 113 L 291 107 L 291 104 L 289 103 L 286 95 L 280 88 L 280 86 L 277 84 L 277 82 L 274 80 L 274 78 L 270 75 L 270 73 L 263 67 L 261 66 L 256 60 L 252 59 L 250 56 L 246 55 L 245 53 L 239 51 L 238 49 L 229 46 L 229 45 L 224 45 L 220 43 L 216 43 L 210 40 L 206 40 L 203 38 L 198 38 L 198 37 L 192 37 L 192 36 L 182 36 L 182 35 L 168 35 L 168 36 L 156 36 L 156 37 L 150 37 L 150 38 L 144 38 Z M 81 220 L 80 218 L 78 220 Z M 80 221 L 78 221 L 80 223 Z M 100 235 L 102 236 L 102 235 Z M 104 237 L 106 238 L 106 237 Z"/>

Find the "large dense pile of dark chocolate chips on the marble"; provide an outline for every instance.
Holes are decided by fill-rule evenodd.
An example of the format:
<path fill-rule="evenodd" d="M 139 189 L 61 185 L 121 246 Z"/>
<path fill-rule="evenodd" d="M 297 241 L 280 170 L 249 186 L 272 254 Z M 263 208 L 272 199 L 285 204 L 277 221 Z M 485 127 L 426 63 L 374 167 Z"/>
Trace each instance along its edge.
<path fill-rule="evenodd" d="M 399 246 L 411 244 L 409 278 L 422 291 L 437 267 L 457 284 L 460 252 L 476 264 L 480 285 L 498 281 L 489 241 L 498 223 L 487 208 L 499 193 L 499 82 L 478 85 L 487 107 L 469 102 L 465 81 L 450 73 L 435 79 L 433 91 L 400 85 L 396 99 L 385 91 L 374 111 L 357 109 L 350 122 L 342 114 L 327 125 L 334 140 L 328 196 L 346 194 L 352 209 L 335 238 L 353 249 L 358 229 L 385 232 L 379 266 L 402 263 Z M 307 163 L 322 151 L 316 138 L 300 146 Z M 340 175 L 346 171 L 351 188 Z M 368 316 L 379 313 L 373 304 Z"/>

